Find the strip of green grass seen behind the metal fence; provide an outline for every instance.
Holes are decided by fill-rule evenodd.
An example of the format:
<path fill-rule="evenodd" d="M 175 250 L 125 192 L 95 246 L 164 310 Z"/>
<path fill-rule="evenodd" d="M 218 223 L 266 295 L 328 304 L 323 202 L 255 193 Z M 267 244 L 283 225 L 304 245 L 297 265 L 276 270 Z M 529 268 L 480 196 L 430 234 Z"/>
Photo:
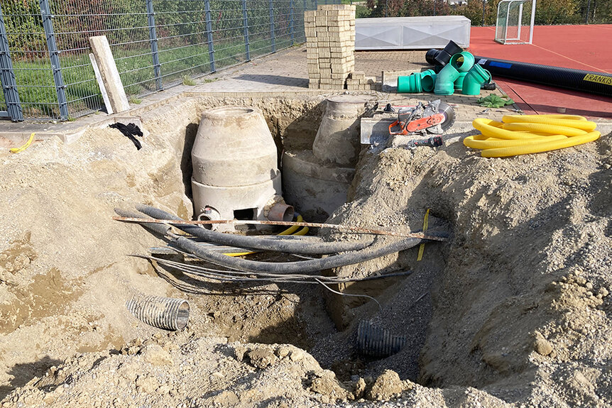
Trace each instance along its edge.
<path fill-rule="evenodd" d="M 265 35 L 265 34 L 263 34 Z M 297 40 L 303 36 L 295 32 Z M 271 39 L 254 33 L 250 38 L 251 58 L 271 53 Z M 290 36 L 280 35 L 276 38 L 276 50 L 290 47 Z M 211 72 L 208 46 L 183 45 L 159 41 L 159 60 L 161 80 L 164 88 L 177 84 L 195 84 L 192 78 L 201 77 Z M 246 60 L 244 42 L 241 40 L 222 41 L 214 43 L 215 68 L 236 65 Z M 121 50 L 113 48 L 117 69 L 124 83 L 126 94 L 132 103 L 137 103 L 144 95 L 156 92 L 155 72 L 148 48 L 140 50 Z M 131 55 L 141 55 L 131 57 Z M 66 85 L 68 111 L 71 118 L 98 111 L 104 106 L 99 92 L 94 70 L 89 61 L 89 55 L 82 53 L 70 55 L 60 54 L 62 78 Z M 26 118 L 59 118 L 60 109 L 55 91 L 55 82 L 50 62 L 47 59 L 13 60 L 13 68 L 21 99 L 23 116 Z M 4 95 L 0 92 L 0 109 L 4 105 Z"/>

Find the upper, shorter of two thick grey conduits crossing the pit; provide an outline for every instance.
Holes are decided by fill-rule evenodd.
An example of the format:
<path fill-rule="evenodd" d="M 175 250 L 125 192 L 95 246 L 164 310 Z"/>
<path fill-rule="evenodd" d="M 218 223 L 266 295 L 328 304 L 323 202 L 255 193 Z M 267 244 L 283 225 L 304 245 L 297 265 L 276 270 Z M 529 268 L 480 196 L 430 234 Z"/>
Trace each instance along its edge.
<path fill-rule="evenodd" d="M 148 205 L 136 206 L 138 211 L 141 213 L 151 216 L 155 219 L 173 219 L 176 221 L 183 221 L 179 217 L 170 214 L 166 211 L 156 209 L 155 207 Z M 206 228 L 199 226 L 175 224 L 175 227 L 190 233 L 192 236 L 202 238 L 207 242 L 219 243 L 222 245 L 236 246 L 239 248 L 253 248 L 261 250 L 275 250 L 277 252 L 284 253 L 302 253 L 302 254 L 315 254 L 323 255 L 329 253 L 339 253 L 351 250 L 360 250 L 368 246 L 371 246 L 374 238 L 372 236 L 364 236 L 361 241 L 351 242 L 295 242 L 295 241 L 282 241 L 272 240 L 268 238 L 257 238 L 254 236 L 241 236 L 229 233 L 220 233 L 217 231 L 210 231 Z"/>

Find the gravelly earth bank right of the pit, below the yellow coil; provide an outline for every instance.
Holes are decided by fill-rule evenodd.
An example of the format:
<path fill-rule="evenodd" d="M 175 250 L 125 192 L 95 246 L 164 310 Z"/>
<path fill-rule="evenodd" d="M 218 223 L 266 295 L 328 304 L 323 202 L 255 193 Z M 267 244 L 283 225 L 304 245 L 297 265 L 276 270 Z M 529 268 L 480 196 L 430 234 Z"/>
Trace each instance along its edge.
<path fill-rule="evenodd" d="M 506 160 L 480 158 L 461 143 L 362 155 L 354 201 L 337 221 L 414 229 L 429 207 L 452 226 L 448 245 L 425 249 L 425 258 L 442 261 L 430 271 L 432 318 L 413 380 L 479 387 L 525 404 L 612 401 L 610 140 Z M 336 272 L 424 270 L 416 256 L 408 250 Z M 373 319 L 409 336 L 395 311 L 411 310 L 416 293 L 382 294 L 382 311 L 345 301 L 343 318 Z M 412 356 L 405 348 L 376 367 L 412 377 Z"/>

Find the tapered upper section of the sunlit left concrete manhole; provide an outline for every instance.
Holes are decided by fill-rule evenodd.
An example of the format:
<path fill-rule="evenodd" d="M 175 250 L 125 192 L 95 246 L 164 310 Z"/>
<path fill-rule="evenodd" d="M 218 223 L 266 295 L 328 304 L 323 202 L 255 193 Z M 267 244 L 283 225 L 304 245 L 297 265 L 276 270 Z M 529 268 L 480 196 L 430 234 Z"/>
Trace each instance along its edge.
<path fill-rule="evenodd" d="M 259 109 L 220 106 L 202 114 L 192 149 L 193 180 L 238 187 L 278 175 L 276 145 Z"/>

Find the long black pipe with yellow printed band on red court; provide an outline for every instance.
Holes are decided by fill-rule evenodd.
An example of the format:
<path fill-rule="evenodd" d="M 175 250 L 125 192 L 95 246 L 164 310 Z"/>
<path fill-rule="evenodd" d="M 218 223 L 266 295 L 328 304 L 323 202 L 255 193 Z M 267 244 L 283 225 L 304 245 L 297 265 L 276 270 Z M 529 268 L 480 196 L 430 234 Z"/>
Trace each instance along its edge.
<path fill-rule="evenodd" d="M 612 97 L 612 75 L 605 72 L 572 70 L 572 68 L 474 57 L 476 64 L 483 65 L 488 72 L 499 77 L 535 82 L 552 87 L 574 89 L 591 94 Z"/>

